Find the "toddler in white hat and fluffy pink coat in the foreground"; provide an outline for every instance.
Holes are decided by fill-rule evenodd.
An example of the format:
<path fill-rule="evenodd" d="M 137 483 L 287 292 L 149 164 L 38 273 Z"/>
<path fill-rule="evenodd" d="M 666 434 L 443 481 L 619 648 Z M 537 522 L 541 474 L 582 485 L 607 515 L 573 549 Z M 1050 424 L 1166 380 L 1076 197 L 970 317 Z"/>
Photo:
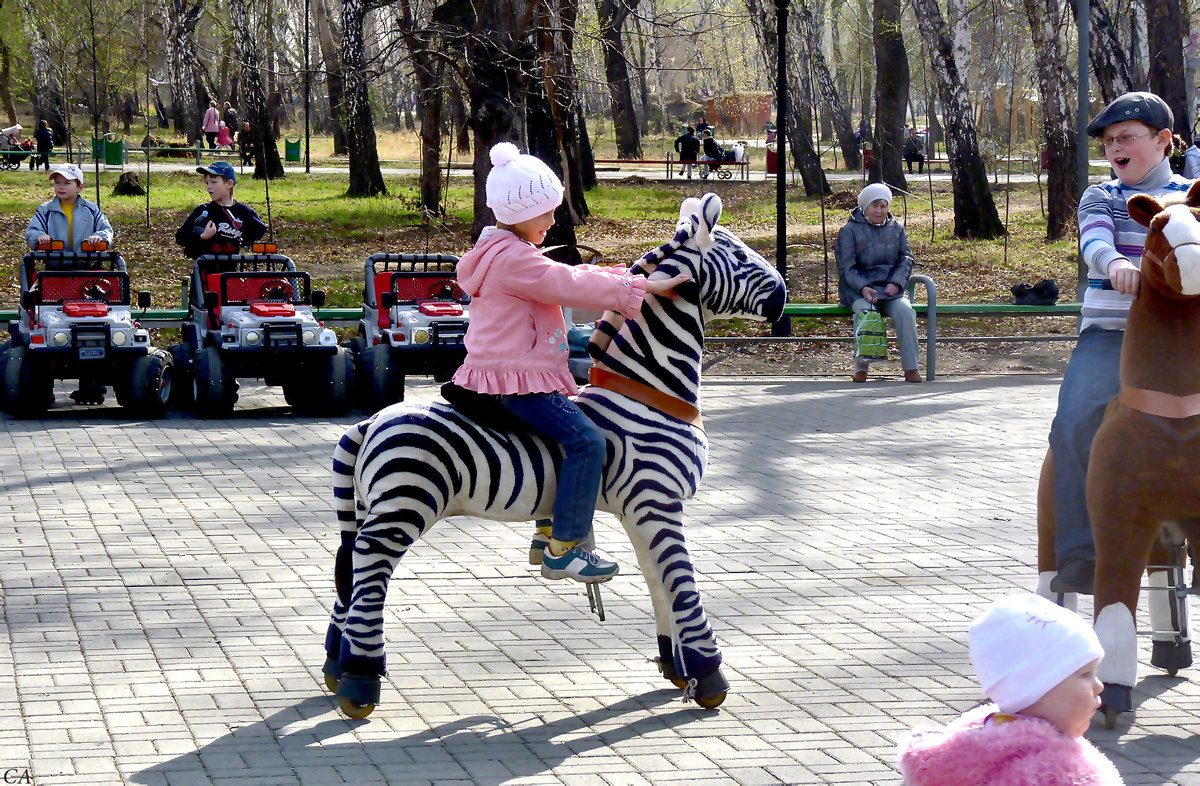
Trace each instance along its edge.
<path fill-rule="evenodd" d="M 1030 593 L 997 600 L 971 623 L 971 661 L 992 703 L 900 742 L 908 786 L 1122 784 L 1084 739 L 1100 706 L 1104 658 L 1084 619 Z"/>

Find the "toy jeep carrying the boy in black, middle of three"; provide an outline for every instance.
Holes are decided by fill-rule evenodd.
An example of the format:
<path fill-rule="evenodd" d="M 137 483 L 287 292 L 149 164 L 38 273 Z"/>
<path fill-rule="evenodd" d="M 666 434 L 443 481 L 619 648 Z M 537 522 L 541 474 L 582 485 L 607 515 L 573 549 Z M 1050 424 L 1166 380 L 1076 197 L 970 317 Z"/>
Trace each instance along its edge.
<path fill-rule="evenodd" d="M 184 340 L 170 348 L 176 402 L 193 404 L 200 418 L 228 415 L 238 403 L 238 379 L 252 377 L 282 385 L 300 413 L 344 413 L 353 383 L 349 353 L 312 313 L 325 305 L 325 293 L 311 292 L 308 274 L 274 244 L 251 248 L 196 259 L 191 319 Z"/>

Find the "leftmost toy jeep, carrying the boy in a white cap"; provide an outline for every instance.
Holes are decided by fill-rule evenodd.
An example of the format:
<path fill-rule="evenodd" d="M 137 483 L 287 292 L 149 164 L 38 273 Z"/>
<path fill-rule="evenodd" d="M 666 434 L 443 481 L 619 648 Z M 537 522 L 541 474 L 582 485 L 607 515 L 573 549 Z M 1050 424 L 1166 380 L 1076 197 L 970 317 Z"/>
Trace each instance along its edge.
<path fill-rule="evenodd" d="M 78 403 L 98 404 L 104 386 L 142 418 L 167 412 L 173 362 L 150 346 L 134 322 L 125 259 L 107 242 L 65 251 L 61 241 L 25 254 L 20 263 L 20 308 L 10 323 L 12 346 L 4 364 L 5 410 L 35 418 L 54 401 L 55 379 L 78 379 Z M 138 293 L 138 307 L 150 293 Z"/>

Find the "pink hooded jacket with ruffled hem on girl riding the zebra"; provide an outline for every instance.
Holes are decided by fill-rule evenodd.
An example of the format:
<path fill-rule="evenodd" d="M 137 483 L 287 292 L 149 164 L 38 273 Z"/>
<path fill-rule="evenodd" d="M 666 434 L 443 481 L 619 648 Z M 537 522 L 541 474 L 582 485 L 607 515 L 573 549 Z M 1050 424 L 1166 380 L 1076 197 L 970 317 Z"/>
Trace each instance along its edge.
<path fill-rule="evenodd" d="M 642 276 L 624 268 L 553 262 L 499 227 L 484 229 L 458 260 L 458 286 L 472 301 L 467 360 L 454 382 L 499 395 L 578 392 L 566 365 L 562 306 L 634 317 L 646 295 Z"/>

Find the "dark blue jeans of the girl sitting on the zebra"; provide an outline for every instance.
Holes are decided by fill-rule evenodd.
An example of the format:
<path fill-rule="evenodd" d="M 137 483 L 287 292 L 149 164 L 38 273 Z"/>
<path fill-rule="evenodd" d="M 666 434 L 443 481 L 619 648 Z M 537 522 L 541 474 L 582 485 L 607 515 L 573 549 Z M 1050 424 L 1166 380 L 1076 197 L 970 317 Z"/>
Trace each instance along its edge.
<path fill-rule="evenodd" d="M 592 532 L 592 516 L 604 474 L 604 433 L 583 410 L 560 392 L 497 396 L 502 407 L 529 428 L 553 439 L 563 450 L 554 497 L 553 538 L 583 540 Z"/>

